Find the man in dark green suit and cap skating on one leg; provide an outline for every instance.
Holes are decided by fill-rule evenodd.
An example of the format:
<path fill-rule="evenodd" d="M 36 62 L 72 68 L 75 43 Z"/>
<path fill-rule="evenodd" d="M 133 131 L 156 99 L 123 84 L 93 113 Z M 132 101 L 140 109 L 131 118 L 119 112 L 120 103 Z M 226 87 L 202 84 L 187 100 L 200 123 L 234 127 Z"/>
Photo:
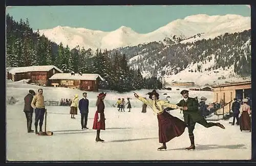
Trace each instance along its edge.
<path fill-rule="evenodd" d="M 195 142 L 194 142 L 194 134 L 193 130 L 195 129 L 196 123 L 199 123 L 203 125 L 204 127 L 212 127 L 212 126 L 218 126 L 222 129 L 225 129 L 225 127 L 220 123 L 212 123 L 207 122 L 201 115 L 199 109 L 198 109 L 198 102 L 195 100 L 195 98 L 188 97 L 188 91 L 182 90 L 180 93 L 183 97 L 182 100 L 177 104 L 178 106 L 182 106 L 181 108 L 183 110 L 183 117 L 184 121 L 187 124 L 188 128 L 188 135 L 190 139 L 190 147 L 185 148 L 186 150 L 195 150 Z"/>

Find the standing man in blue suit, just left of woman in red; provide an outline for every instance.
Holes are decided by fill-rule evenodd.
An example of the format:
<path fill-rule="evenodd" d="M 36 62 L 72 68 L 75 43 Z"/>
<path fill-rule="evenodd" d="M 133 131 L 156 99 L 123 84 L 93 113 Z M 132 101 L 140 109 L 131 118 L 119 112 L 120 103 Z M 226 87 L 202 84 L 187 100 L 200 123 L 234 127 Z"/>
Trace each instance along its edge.
<path fill-rule="evenodd" d="M 89 113 L 89 100 L 87 99 L 87 93 L 82 93 L 83 98 L 79 100 L 78 108 L 81 113 L 81 126 L 82 129 L 88 129 L 87 127 L 87 120 L 88 120 L 88 113 Z"/>

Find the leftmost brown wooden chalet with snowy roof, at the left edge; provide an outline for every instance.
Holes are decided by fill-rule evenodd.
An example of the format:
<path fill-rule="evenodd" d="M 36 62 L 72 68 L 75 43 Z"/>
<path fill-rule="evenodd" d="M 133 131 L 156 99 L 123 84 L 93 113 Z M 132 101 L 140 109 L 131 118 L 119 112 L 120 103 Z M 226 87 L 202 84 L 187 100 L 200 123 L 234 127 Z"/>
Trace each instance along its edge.
<path fill-rule="evenodd" d="M 48 79 L 55 73 L 63 73 L 63 71 L 53 65 L 7 68 L 8 79 L 11 79 L 13 81 L 30 79 L 30 82 L 38 84 L 40 86 L 48 86 Z"/>

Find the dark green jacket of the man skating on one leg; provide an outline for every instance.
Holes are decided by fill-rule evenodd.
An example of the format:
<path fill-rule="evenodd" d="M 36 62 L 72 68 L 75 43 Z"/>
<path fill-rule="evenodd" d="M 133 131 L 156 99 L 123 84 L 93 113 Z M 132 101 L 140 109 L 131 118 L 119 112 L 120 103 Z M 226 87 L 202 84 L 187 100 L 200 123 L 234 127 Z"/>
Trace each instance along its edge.
<path fill-rule="evenodd" d="M 196 99 L 188 97 L 187 102 L 185 100 L 180 100 L 177 103 L 178 106 L 187 106 L 187 110 L 183 110 L 184 122 L 188 123 L 188 117 L 191 118 L 194 122 L 198 122 L 204 119 L 198 109 L 198 102 Z"/>

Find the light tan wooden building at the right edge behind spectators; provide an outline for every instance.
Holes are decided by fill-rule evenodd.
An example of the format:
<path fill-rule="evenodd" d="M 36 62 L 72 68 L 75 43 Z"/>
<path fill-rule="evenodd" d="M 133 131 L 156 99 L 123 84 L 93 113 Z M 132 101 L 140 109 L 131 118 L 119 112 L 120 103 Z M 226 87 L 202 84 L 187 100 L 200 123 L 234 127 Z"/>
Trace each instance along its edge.
<path fill-rule="evenodd" d="M 230 110 L 230 105 L 232 105 L 233 98 L 241 100 L 243 98 L 249 99 L 249 104 L 251 103 L 251 81 L 234 82 L 222 85 L 212 86 L 214 88 L 214 102 L 224 103 L 224 113 L 228 113 Z M 227 104 L 228 103 L 228 104 Z M 222 110 L 218 114 L 221 114 Z"/>

